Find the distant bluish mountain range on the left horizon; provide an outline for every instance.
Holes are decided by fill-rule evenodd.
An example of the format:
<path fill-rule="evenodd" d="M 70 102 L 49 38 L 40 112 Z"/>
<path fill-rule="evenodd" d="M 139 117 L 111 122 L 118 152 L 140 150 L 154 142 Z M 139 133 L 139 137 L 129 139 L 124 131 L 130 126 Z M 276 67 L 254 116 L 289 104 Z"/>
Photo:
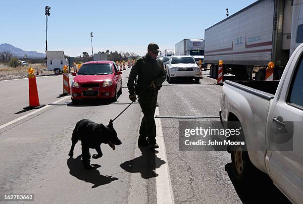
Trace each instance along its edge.
<path fill-rule="evenodd" d="M 28 58 L 44 58 L 45 54 L 37 51 L 24 51 L 20 48 L 16 48 L 10 44 L 3 43 L 0 45 L 0 52 L 1 51 L 10 51 L 13 53 L 14 56 L 17 57 L 24 57 L 24 54 L 27 55 Z"/>

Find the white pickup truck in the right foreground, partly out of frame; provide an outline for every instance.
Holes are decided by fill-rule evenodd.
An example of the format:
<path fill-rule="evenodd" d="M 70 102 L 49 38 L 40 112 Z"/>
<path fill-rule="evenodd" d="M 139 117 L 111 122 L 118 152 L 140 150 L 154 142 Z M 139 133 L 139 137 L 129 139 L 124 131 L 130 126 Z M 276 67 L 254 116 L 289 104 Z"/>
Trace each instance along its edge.
<path fill-rule="evenodd" d="M 236 179 L 253 177 L 255 166 L 291 202 L 303 204 L 303 44 L 280 81 L 225 81 L 220 119 L 243 128 L 246 147 L 228 147 Z M 274 149 L 277 141 L 291 141 L 292 150 Z"/>

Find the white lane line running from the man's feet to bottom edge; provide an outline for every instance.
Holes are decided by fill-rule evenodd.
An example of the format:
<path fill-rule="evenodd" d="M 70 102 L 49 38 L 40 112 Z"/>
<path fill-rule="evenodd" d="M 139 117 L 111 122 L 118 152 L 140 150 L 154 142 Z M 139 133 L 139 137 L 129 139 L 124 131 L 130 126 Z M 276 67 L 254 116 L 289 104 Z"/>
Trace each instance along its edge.
<path fill-rule="evenodd" d="M 159 115 L 158 107 L 156 107 L 154 114 Z M 161 165 L 160 163 L 158 163 L 160 159 L 155 160 L 156 161 L 155 166 L 160 166 L 159 168 L 155 169 L 156 174 L 158 174 L 158 176 L 156 177 L 157 204 L 173 204 L 174 198 L 173 198 L 171 180 L 169 176 L 169 169 L 168 169 L 168 163 L 166 158 L 161 119 L 160 118 L 155 119 L 155 124 L 156 124 L 156 132 L 157 132 L 156 140 L 159 146 L 159 149 L 157 149 L 159 153 L 157 153 L 156 156 L 161 160 L 165 161 L 165 163 Z"/>

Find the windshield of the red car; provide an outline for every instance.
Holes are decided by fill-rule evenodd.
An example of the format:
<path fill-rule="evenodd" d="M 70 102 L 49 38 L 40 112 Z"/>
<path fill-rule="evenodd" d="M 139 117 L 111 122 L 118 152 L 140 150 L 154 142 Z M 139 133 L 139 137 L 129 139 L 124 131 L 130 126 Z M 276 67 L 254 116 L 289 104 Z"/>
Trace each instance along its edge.
<path fill-rule="evenodd" d="M 112 68 L 110 64 L 107 63 L 83 64 L 78 72 L 78 75 L 103 75 L 103 74 L 112 74 Z"/>

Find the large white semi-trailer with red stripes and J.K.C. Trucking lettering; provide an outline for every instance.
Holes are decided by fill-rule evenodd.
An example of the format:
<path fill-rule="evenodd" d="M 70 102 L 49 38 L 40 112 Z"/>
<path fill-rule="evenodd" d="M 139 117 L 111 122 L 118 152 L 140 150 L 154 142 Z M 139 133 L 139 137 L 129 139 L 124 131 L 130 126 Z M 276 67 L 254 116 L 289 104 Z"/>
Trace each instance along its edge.
<path fill-rule="evenodd" d="M 265 79 L 265 68 L 275 64 L 280 79 L 292 52 L 303 43 L 303 0 L 258 0 L 205 30 L 204 66 L 217 78 L 218 61 L 224 73 L 237 79 Z M 301 11 L 301 12 L 300 12 Z"/>

